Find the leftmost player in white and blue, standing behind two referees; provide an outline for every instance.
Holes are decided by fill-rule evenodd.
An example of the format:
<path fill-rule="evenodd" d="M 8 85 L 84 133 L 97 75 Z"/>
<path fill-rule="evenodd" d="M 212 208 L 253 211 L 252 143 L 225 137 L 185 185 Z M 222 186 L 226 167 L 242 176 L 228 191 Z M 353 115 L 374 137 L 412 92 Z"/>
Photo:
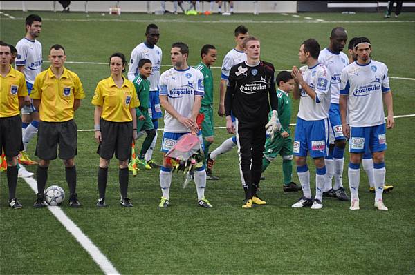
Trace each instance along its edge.
<path fill-rule="evenodd" d="M 32 91 L 37 74 L 42 72 L 42 44 L 36 40 L 42 30 L 42 18 L 37 14 L 26 17 L 26 36 L 16 44 L 17 58 L 16 69 L 24 74 L 28 94 Z M 20 153 L 19 161 L 26 165 L 36 164 L 26 154 L 30 140 L 37 133 L 39 126 L 39 112 L 33 106 L 29 96 L 24 99 L 24 107 L 21 109 L 21 128 L 23 132 L 24 151 Z"/>

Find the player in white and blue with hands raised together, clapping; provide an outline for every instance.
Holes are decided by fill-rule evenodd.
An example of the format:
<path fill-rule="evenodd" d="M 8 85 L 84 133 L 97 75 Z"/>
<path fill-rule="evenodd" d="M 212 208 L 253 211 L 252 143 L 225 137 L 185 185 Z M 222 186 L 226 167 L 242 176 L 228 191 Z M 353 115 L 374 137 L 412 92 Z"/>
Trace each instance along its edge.
<path fill-rule="evenodd" d="M 299 99 L 297 125 L 293 154 L 296 156 L 297 174 L 303 190 L 302 198 L 292 207 L 311 206 L 320 209 L 322 205 L 323 187 L 326 177 L 326 146 L 328 139 L 328 117 L 330 107 L 329 70 L 318 62 L 320 45 L 315 39 L 304 41 L 299 48 L 299 61 L 306 64 L 299 70 L 293 67 L 295 87 L 294 99 Z M 315 164 L 315 199 L 311 198 L 310 172 L 307 167 L 307 153 Z"/>

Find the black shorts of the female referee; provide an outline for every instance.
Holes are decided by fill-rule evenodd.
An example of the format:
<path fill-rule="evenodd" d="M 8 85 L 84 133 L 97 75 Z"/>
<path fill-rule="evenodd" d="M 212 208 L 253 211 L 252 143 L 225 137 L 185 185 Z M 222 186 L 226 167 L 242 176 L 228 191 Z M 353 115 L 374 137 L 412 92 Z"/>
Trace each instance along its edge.
<path fill-rule="evenodd" d="M 114 152 L 120 161 L 129 159 L 133 142 L 133 122 L 112 122 L 101 119 L 101 138 L 97 154 L 102 159 L 112 159 Z"/>

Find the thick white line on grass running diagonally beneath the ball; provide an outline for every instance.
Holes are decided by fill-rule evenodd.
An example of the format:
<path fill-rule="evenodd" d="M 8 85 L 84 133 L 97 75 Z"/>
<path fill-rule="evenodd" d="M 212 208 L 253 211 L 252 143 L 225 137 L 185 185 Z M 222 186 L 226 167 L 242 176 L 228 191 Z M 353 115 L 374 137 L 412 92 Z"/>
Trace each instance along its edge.
<path fill-rule="evenodd" d="M 32 188 L 32 190 L 37 193 L 37 182 L 33 178 L 24 178 L 24 181 Z M 80 227 L 77 227 L 75 223 L 66 216 L 66 214 L 60 209 L 60 207 L 56 206 L 48 206 L 48 210 L 52 212 L 53 216 L 57 218 L 57 220 L 64 225 L 66 230 L 70 232 L 82 247 L 86 250 L 86 252 L 91 255 L 93 261 L 97 263 L 102 272 L 104 274 L 120 274 L 117 269 L 113 266 L 113 264 L 107 259 L 107 257 L 100 252 L 100 249 L 96 247 L 92 241 L 80 230 Z"/>

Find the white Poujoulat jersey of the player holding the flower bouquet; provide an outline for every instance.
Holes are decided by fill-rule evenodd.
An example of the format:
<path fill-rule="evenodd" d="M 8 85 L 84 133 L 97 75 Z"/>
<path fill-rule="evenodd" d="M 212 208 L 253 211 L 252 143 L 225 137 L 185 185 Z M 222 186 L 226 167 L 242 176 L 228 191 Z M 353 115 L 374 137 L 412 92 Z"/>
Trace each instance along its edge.
<path fill-rule="evenodd" d="M 203 74 L 195 68 L 189 67 L 186 70 L 171 68 L 161 74 L 160 96 L 167 96 L 170 105 L 181 116 L 190 118 L 195 96 L 203 97 L 204 94 Z M 190 132 L 189 128 L 180 123 L 167 111 L 165 111 L 164 123 L 165 132 Z"/>

